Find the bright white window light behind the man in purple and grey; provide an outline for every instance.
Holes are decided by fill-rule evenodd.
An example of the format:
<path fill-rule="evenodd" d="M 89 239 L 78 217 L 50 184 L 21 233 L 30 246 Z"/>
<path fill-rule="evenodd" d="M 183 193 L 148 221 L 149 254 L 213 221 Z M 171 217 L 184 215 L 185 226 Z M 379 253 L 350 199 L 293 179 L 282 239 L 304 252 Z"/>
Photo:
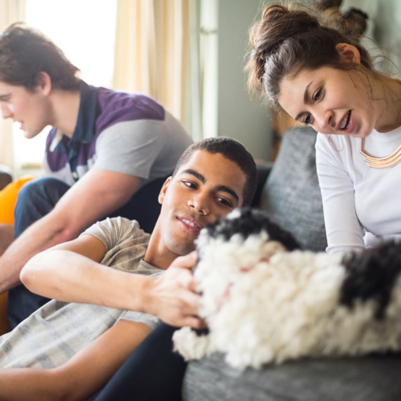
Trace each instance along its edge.
<path fill-rule="evenodd" d="M 26 23 L 48 36 L 95 86 L 112 86 L 117 0 L 26 0 Z M 43 160 L 49 128 L 26 139 L 13 127 L 17 165 Z"/>

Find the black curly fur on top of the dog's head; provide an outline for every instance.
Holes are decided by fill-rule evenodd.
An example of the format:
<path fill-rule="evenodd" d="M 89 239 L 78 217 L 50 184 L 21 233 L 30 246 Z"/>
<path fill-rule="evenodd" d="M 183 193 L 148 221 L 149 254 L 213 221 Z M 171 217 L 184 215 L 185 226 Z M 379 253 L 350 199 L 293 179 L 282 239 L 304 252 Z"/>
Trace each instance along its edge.
<path fill-rule="evenodd" d="M 240 217 L 224 219 L 208 226 L 209 237 L 223 237 L 228 241 L 235 234 L 247 238 L 265 231 L 270 240 L 280 242 L 288 251 L 301 248 L 291 233 L 272 222 L 266 213 L 251 208 L 241 208 L 240 212 Z"/>

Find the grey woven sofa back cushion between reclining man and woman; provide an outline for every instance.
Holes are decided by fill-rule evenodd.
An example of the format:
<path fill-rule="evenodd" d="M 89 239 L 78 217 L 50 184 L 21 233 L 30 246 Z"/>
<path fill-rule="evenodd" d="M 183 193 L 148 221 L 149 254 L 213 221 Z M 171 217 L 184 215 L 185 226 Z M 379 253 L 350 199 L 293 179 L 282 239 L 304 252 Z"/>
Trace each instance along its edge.
<path fill-rule="evenodd" d="M 260 208 L 304 249 L 324 251 L 326 233 L 315 164 L 316 131 L 287 130 L 261 194 Z"/>

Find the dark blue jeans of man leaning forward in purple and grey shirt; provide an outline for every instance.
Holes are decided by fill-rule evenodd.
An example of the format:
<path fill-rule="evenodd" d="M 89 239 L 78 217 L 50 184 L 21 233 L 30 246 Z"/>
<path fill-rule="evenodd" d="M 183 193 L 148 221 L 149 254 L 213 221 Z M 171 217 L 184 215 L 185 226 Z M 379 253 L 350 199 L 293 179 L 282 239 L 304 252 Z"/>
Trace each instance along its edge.
<path fill-rule="evenodd" d="M 104 218 L 123 216 L 135 219 L 144 231 L 151 233 L 160 213 L 157 195 L 165 178 L 148 182 L 124 206 Z M 56 178 L 41 178 L 25 184 L 18 194 L 14 212 L 15 238 L 31 224 L 47 215 L 69 188 L 69 185 Z M 23 285 L 9 290 L 7 314 L 11 328 L 16 327 L 47 301 L 48 298 L 30 292 Z"/>

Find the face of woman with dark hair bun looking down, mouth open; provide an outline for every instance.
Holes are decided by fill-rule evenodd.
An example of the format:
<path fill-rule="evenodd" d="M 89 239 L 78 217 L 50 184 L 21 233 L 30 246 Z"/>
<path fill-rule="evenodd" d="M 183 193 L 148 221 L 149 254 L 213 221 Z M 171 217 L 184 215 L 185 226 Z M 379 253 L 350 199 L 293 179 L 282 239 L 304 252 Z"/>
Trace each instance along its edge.
<path fill-rule="evenodd" d="M 301 69 L 280 83 L 280 106 L 297 122 L 323 134 L 364 138 L 375 128 L 378 110 L 366 74 L 357 68 Z"/>

